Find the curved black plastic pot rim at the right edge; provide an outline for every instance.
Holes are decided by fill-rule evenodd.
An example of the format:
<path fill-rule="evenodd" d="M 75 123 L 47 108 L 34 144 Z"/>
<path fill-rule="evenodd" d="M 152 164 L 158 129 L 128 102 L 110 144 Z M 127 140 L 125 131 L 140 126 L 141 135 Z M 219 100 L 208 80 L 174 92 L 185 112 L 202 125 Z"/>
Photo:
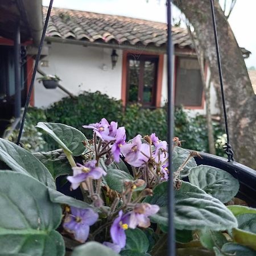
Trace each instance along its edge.
<path fill-rule="evenodd" d="M 195 158 L 197 164 L 207 164 L 220 168 L 221 170 L 229 172 L 233 177 L 239 180 L 240 190 L 236 197 L 246 201 L 250 207 L 256 208 L 256 171 L 243 166 L 240 163 L 229 163 L 228 159 L 220 156 L 210 155 L 200 152 L 203 159 Z"/>

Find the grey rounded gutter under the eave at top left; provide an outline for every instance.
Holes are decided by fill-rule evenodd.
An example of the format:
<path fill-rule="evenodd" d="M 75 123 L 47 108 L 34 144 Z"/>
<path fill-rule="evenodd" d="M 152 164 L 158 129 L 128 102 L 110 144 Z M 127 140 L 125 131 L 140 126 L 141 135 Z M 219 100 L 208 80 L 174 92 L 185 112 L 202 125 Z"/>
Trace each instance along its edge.
<path fill-rule="evenodd" d="M 35 46 L 39 46 L 43 31 L 42 0 L 21 0 Z"/>

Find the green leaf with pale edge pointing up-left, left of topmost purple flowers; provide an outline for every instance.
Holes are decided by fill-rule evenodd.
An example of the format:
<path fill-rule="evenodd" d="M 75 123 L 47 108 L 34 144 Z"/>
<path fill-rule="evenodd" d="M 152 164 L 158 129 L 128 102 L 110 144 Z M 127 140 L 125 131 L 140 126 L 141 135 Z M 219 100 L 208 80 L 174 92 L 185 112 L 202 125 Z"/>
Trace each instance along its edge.
<path fill-rule="evenodd" d="M 36 127 L 46 131 L 63 150 L 74 156 L 79 156 L 85 151 L 82 144 L 83 141 L 86 141 L 85 135 L 71 126 L 62 123 L 39 122 Z"/>

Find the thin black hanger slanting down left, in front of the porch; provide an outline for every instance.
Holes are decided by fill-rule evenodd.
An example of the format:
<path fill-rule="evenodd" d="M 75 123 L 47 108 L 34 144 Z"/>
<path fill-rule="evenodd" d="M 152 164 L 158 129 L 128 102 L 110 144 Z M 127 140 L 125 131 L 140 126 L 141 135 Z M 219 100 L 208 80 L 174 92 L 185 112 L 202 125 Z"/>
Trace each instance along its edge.
<path fill-rule="evenodd" d="M 53 3 L 53 0 L 51 0 L 50 3 L 49 3 L 47 15 L 46 15 L 46 21 L 44 22 L 43 33 L 42 33 L 42 37 L 41 37 L 39 48 L 38 48 L 38 54 L 36 55 L 35 66 L 34 66 L 32 79 L 31 79 L 31 83 L 30 83 L 30 89 L 28 90 L 27 100 L 26 100 L 26 104 L 25 104 L 24 112 L 23 112 L 23 116 L 22 116 L 22 123 L 20 125 L 19 135 L 18 135 L 18 139 L 16 141 L 17 145 L 20 143 L 20 138 L 22 136 L 22 131 L 23 131 L 24 122 L 25 122 L 25 119 L 26 119 L 28 105 L 30 104 L 30 98 L 31 98 L 31 94 L 32 94 L 32 89 L 34 87 L 36 71 L 38 69 L 38 64 L 39 64 L 39 60 L 40 60 L 40 56 L 41 56 L 41 52 L 42 52 L 42 48 L 43 48 L 44 38 L 46 37 L 46 30 L 47 30 L 51 10 L 52 10 L 52 3 Z"/>

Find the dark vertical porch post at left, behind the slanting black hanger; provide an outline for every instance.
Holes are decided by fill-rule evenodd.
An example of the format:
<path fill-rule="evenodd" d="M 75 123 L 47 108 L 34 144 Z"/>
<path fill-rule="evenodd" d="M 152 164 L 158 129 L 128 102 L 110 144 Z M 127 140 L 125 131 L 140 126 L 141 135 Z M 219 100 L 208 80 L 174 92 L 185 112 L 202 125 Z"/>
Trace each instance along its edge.
<path fill-rule="evenodd" d="M 14 72 L 15 72 L 15 105 L 14 105 L 14 117 L 20 117 L 21 109 L 21 75 L 20 75 L 20 24 L 17 22 L 14 38 Z"/>

